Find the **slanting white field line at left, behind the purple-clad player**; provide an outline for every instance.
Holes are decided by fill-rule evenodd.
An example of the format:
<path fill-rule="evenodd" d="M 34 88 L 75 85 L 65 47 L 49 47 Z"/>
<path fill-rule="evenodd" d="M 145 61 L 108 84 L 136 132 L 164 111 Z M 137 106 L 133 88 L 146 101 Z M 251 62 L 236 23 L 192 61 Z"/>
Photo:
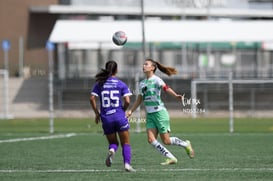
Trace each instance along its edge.
<path fill-rule="evenodd" d="M 40 137 L 30 137 L 30 138 L 7 139 L 7 140 L 0 140 L 0 143 L 14 143 L 14 142 L 35 141 L 35 140 L 49 140 L 49 139 L 58 139 L 58 138 L 69 138 L 69 137 L 72 137 L 72 136 L 76 136 L 76 133 L 50 135 L 50 136 L 40 136 Z"/>

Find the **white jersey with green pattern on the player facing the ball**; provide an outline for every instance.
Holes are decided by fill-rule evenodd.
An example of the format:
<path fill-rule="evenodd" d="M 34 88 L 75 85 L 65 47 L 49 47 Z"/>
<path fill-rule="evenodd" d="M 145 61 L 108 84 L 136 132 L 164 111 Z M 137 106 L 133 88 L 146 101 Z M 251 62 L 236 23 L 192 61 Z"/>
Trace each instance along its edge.
<path fill-rule="evenodd" d="M 153 113 L 165 109 L 161 100 L 161 90 L 165 82 L 158 76 L 153 75 L 144 79 L 139 84 L 139 94 L 142 95 L 147 113 Z"/>

